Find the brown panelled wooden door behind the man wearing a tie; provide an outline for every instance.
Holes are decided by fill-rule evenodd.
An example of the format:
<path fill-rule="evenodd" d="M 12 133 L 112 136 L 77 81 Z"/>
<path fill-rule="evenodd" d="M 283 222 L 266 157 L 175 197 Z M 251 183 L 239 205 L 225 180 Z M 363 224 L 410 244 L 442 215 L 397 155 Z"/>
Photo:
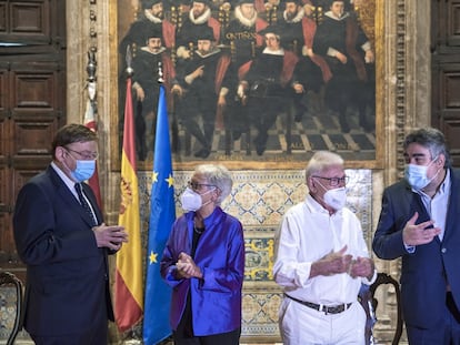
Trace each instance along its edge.
<path fill-rule="evenodd" d="M 12 212 L 66 123 L 66 1 L 0 1 L 0 267 L 23 276 Z"/>

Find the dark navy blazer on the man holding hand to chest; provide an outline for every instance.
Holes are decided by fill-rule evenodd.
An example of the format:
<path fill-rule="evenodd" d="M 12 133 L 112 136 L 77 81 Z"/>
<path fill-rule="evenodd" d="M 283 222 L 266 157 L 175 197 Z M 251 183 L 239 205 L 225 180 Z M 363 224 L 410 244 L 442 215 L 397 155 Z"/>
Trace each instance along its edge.
<path fill-rule="evenodd" d="M 432 326 L 442 317 L 447 282 L 460 307 L 460 171 L 450 172 L 451 191 L 443 240 L 436 237 L 429 244 L 418 245 L 412 254 L 402 243 L 402 229 L 414 212 L 419 213 L 417 223 L 428 221 L 430 216 L 406 180 L 383 192 L 372 248 L 380 258 L 402 257 L 401 300 L 409 326 Z"/>

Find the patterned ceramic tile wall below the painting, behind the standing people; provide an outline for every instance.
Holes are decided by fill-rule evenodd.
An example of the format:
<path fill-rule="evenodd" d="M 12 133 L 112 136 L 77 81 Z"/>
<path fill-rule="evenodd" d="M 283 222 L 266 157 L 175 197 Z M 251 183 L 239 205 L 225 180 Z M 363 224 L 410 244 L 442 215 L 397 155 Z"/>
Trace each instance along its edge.
<path fill-rule="evenodd" d="M 371 232 L 372 172 L 347 170 L 350 181 L 347 205 L 361 220 L 364 237 Z M 192 171 L 174 172 L 177 215 L 180 194 Z M 278 308 L 281 288 L 273 282 L 273 236 L 286 211 L 307 194 L 303 171 L 232 171 L 233 189 L 222 203 L 226 212 L 244 226 L 246 272 L 243 286 L 242 338 L 279 341 Z M 151 174 L 139 174 L 143 237 L 147 237 Z M 144 242 L 147 243 L 147 241 Z"/>

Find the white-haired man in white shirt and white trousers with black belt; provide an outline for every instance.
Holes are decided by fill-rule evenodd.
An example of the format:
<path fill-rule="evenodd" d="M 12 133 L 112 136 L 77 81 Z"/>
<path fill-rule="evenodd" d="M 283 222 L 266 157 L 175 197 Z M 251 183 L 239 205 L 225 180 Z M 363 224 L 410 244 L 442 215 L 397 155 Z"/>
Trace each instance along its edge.
<path fill-rule="evenodd" d="M 347 207 L 343 160 L 319 151 L 306 169 L 309 194 L 290 209 L 276 235 L 273 275 L 284 290 L 283 344 L 364 344 L 366 313 L 357 297 L 377 272 L 361 224 Z"/>

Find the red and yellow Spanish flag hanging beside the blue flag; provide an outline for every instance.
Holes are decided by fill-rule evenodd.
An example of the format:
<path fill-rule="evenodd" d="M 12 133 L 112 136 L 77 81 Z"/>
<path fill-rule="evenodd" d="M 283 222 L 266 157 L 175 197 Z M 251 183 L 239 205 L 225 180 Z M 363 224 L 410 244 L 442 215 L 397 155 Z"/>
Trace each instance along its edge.
<path fill-rule="evenodd" d="M 120 187 L 121 204 L 118 223 L 127 230 L 129 242 L 123 244 L 117 253 L 114 313 L 118 328 L 124 332 L 142 318 L 143 312 L 139 185 L 136 164 L 131 78 L 128 78 L 127 81 Z"/>

